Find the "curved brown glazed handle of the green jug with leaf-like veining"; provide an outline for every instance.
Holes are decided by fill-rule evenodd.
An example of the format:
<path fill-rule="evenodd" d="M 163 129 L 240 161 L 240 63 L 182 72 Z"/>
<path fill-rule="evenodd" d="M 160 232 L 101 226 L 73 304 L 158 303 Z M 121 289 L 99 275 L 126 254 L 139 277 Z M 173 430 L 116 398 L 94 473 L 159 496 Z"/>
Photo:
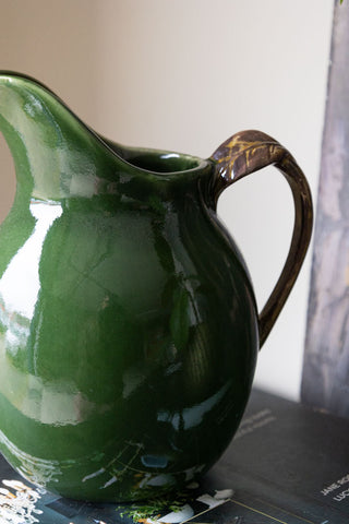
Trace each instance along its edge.
<path fill-rule="evenodd" d="M 224 142 L 212 155 L 217 164 L 215 202 L 231 183 L 274 165 L 286 177 L 293 195 L 294 227 L 286 263 L 279 279 L 258 315 L 260 347 L 278 318 L 303 263 L 313 225 L 312 198 L 306 179 L 291 154 L 261 131 L 242 131 Z"/>

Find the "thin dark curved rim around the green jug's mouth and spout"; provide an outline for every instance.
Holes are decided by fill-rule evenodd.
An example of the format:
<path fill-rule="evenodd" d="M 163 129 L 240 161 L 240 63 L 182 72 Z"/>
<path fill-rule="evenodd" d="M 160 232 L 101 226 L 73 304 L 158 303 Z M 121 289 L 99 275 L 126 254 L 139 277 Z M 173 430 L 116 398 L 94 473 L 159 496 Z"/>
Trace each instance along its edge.
<path fill-rule="evenodd" d="M 119 160 L 122 163 L 131 166 L 132 168 L 143 171 L 149 175 L 153 175 L 157 178 L 177 178 L 179 175 L 184 175 L 184 174 L 193 174 L 193 172 L 198 172 L 202 170 L 205 170 L 208 165 L 213 164 L 213 160 L 210 158 L 204 159 L 195 155 L 190 155 L 186 153 L 180 153 L 180 152 L 174 152 L 170 150 L 157 150 L 153 147 L 137 147 L 137 146 L 125 146 L 120 143 L 116 143 L 112 140 L 99 134 L 97 131 L 95 131 L 92 127 L 89 127 L 87 123 L 85 123 L 79 115 L 76 115 L 67 104 L 65 102 L 57 95 L 50 87 L 48 87 L 44 82 L 35 79 L 34 76 L 26 74 L 26 73 L 20 73 L 17 71 L 11 71 L 11 70 L 0 70 L 0 78 L 1 76 L 8 76 L 10 80 L 11 79 L 19 79 L 23 81 L 29 81 L 34 83 L 35 85 L 41 87 L 45 90 L 50 96 L 52 96 L 60 105 L 64 107 L 64 109 L 72 116 L 84 128 L 84 130 L 92 134 L 104 147 L 106 147 L 109 153 L 112 154 L 112 156 L 117 157 Z M 116 150 L 119 150 L 116 151 Z M 124 156 L 123 154 L 124 153 Z M 130 158 L 127 157 L 128 153 L 130 154 Z M 136 156 L 136 154 L 149 154 L 149 155 L 157 155 L 158 158 L 161 160 L 165 159 L 168 156 L 176 157 L 178 159 L 182 160 L 188 160 L 193 163 L 192 167 L 185 168 L 185 169 L 151 169 L 151 168 L 145 168 L 136 163 L 132 162 L 132 158 Z"/>

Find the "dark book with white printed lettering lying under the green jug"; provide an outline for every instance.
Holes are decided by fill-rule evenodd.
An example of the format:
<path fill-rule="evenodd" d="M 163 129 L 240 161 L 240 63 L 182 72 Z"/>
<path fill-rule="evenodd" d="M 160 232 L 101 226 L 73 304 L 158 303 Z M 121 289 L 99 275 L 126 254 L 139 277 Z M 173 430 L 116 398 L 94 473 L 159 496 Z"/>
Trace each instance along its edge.
<path fill-rule="evenodd" d="M 35 488 L 0 457 L 0 523 L 348 524 L 348 419 L 254 390 L 200 485 L 142 504 L 92 504 Z"/>

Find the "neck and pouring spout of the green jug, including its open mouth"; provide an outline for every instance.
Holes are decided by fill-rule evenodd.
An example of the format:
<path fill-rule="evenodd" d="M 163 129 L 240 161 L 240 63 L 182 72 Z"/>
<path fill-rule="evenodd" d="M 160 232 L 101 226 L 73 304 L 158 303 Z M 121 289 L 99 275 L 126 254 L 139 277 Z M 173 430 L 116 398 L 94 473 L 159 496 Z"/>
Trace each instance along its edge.
<path fill-rule="evenodd" d="M 160 181 L 163 191 L 167 182 L 212 169 L 210 162 L 191 155 L 104 139 L 48 87 L 19 73 L 0 71 L 0 131 L 14 159 L 17 190 L 38 200 L 124 193 L 142 200 L 153 182 Z"/>

